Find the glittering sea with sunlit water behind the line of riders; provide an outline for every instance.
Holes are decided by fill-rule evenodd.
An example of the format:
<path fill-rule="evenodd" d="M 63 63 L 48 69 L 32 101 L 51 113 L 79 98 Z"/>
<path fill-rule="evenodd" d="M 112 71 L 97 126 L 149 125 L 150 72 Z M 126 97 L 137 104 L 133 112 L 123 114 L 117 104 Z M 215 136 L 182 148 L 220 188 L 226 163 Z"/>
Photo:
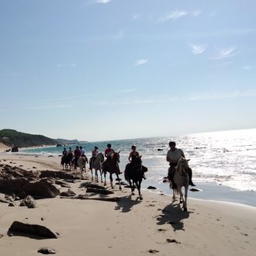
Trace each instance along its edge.
<path fill-rule="evenodd" d="M 104 153 L 106 144 L 120 151 L 120 170 L 128 163 L 131 146 L 136 145 L 142 155 L 144 166 L 148 168 L 147 179 L 142 183 L 157 192 L 171 193 L 163 178 L 168 173 L 166 154 L 168 142 L 175 141 L 181 148 L 193 171 L 193 182 L 198 192 L 189 196 L 199 199 L 217 199 L 241 202 L 256 206 L 256 129 L 229 130 L 211 133 L 192 133 L 169 137 L 149 137 L 130 140 L 107 140 L 81 144 L 87 157 L 92 156 L 95 146 Z M 76 145 L 66 145 L 74 150 Z M 79 145 L 80 146 L 80 145 Z M 22 149 L 24 154 L 59 156 L 63 147 L 40 147 Z M 60 158 L 61 161 L 61 158 Z M 122 175 L 121 175 L 122 178 Z"/>

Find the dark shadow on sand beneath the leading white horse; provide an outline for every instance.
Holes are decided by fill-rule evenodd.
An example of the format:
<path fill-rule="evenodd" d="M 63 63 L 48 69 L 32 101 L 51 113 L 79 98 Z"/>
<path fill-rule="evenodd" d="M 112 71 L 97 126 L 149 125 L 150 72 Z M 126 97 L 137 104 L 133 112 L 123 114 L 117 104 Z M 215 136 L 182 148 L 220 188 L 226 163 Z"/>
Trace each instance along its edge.
<path fill-rule="evenodd" d="M 162 213 L 157 216 L 157 225 L 170 224 L 174 231 L 185 230 L 182 220 L 188 219 L 189 214 L 193 212 L 184 212 L 181 205 L 175 201 L 162 209 Z"/>

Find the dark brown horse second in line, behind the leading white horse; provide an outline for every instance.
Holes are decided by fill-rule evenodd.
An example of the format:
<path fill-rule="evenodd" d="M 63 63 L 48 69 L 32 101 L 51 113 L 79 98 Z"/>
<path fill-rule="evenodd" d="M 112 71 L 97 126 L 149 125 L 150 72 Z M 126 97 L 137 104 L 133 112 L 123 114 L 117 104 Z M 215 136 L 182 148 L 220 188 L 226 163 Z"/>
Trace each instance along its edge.
<path fill-rule="evenodd" d="M 147 171 L 147 167 L 142 165 L 141 156 L 136 157 L 133 163 L 126 164 L 126 169 L 124 171 L 124 178 L 130 184 L 130 189 L 132 190 L 132 195 L 134 195 L 135 185 L 139 192 L 140 200 L 142 200 L 142 195 L 140 194 L 140 184 L 142 178 L 144 177 L 144 172 Z"/>

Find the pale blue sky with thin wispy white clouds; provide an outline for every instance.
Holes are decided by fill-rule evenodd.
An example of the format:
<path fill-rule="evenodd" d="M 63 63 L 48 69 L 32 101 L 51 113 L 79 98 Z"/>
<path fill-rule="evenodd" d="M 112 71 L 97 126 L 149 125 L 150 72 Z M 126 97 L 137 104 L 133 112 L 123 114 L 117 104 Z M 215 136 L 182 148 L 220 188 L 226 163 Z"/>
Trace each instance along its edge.
<path fill-rule="evenodd" d="M 255 0 L 0 0 L 0 129 L 94 141 L 255 128 L 255 69 Z"/>

